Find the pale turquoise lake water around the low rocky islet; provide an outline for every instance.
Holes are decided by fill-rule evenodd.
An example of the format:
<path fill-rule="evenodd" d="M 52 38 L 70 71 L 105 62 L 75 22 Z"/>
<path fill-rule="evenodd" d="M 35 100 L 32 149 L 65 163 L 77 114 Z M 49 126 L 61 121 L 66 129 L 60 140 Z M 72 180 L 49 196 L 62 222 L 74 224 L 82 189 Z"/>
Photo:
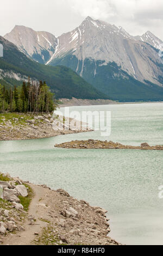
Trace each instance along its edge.
<path fill-rule="evenodd" d="M 0 142 L 0 171 L 35 184 L 64 188 L 71 196 L 108 210 L 110 236 L 127 245 L 163 245 L 163 152 L 60 149 L 72 139 L 128 145 L 163 144 L 163 103 L 71 107 L 111 111 L 111 135 L 101 131 L 46 139 Z M 63 110 L 63 109 L 62 109 Z"/>

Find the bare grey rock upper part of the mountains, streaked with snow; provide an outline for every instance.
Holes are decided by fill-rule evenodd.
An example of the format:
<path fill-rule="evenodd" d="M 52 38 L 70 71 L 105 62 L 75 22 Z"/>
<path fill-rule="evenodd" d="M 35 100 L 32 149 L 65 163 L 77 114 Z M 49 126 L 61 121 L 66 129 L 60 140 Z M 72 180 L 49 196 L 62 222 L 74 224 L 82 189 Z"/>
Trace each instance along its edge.
<path fill-rule="evenodd" d="M 15 26 L 4 37 L 37 62 L 55 65 L 60 64 L 58 60 L 64 60 L 61 64 L 83 77 L 89 60 L 94 66 L 93 78 L 97 76 L 97 63 L 101 66 L 115 63 L 136 80 L 160 85 L 161 71 L 156 63 L 161 63 L 161 59 L 154 48 L 159 49 L 163 42 L 150 31 L 132 36 L 121 26 L 87 16 L 73 31 L 58 38 L 23 26 Z"/>

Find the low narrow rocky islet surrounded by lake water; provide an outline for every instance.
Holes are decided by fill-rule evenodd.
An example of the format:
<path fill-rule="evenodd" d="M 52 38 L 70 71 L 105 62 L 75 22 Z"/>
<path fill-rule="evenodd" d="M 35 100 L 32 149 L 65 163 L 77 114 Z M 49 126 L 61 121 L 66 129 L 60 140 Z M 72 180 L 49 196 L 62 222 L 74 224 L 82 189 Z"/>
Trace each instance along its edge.
<path fill-rule="evenodd" d="M 123 145 L 121 143 L 114 143 L 112 141 L 99 141 L 89 139 L 87 141 L 71 141 L 61 144 L 56 144 L 55 148 L 69 148 L 69 149 L 143 149 L 143 150 L 163 150 L 163 145 L 150 146 L 148 143 L 142 143 L 140 146 Z"/>

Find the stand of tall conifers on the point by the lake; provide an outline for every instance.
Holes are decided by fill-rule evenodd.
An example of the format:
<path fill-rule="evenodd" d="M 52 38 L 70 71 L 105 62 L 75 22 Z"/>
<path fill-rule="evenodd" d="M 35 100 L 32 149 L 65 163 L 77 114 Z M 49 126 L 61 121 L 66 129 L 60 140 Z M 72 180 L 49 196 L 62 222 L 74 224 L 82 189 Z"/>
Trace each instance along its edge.
<path fill-rule="evenodd" d="M 9 90 L 0 84 L 0 112 L 51 113 L 55 98 L 46 82 L 23 82 L 22 86 Z"/>

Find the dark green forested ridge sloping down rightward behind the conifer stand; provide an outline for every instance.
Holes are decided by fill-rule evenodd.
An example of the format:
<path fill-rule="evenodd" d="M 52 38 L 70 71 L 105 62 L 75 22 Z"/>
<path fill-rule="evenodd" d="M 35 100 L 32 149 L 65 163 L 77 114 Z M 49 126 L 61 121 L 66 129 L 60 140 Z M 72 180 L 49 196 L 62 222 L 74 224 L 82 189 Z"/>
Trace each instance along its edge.
<path fill-rule="evenodd" d="M 28 58 L 17 46 L 0 36 L 3 57 L 0 58 L 0 83 L 18 86 L 28 77 L 34 82 L 46 81 L 58 98 L 105 99 L 106 96 L 65 66 L 46 66 Z"/>

